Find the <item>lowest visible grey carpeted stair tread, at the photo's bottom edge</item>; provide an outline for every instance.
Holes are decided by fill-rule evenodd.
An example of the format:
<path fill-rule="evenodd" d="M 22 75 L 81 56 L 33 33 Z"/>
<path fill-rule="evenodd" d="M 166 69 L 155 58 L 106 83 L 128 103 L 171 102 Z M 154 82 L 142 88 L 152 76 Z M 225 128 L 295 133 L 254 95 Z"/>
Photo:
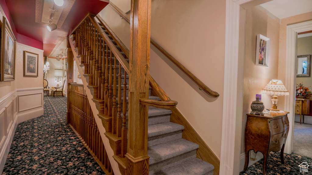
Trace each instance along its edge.
<path fill-rule="evenodd" d="M 213 169 L 212 164 L 194 158 L 153 175 L 213 175 Z"/>

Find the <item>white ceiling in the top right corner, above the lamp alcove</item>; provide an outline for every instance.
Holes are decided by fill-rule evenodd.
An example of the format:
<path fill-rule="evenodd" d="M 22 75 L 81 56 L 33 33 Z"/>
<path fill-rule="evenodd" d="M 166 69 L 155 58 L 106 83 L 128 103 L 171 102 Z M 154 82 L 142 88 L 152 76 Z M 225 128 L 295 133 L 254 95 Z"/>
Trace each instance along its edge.
<path fill-rule="evenodd" d="M 312 0 L 273 0 L 261 6 L 280 19 L 312 12 Z"/>

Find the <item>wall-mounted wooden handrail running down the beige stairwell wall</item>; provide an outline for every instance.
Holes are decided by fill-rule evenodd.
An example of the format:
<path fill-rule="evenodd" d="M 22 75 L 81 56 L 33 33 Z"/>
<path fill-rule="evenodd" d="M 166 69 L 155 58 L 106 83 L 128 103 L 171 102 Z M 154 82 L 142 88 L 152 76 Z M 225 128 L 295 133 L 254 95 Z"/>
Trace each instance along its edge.
<path fill-rule="evenodd" d="M 109 3 L 109 6 L 119 14 L 122 18 L 124 18 L 125 21 L 127 21 L 130 24 L 130 21 L 126 18 L 126 16 L 118 10 L 115 5 L 113 5 L 111 2 Z M 150 39 L 151 43 L 161 52 L 163 53 L 170 61 L 173 62 L 179 69 L 182 70 L 189 78 L 195 82 L 200 90 L 205 91 L 208 95 L 212 97 L 219 97 L 219 93 L 212 91 L 208 86 L 206 86 L 202 81 L 200 81 L 193 73 L 191 73 L 186 67 L 184 67 L 177 59 L 175 59 L 171 54 L 169 54 L 166 50 L 164 50 L 158 43 L 156 43 L 152 38 Z"/>

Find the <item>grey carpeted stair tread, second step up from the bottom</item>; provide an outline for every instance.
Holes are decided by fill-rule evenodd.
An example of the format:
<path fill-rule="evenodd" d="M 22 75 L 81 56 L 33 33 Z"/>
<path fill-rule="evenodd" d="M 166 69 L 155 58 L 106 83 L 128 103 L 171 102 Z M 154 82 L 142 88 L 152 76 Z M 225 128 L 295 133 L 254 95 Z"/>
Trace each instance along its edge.
<path fill-rule="evenodd" d="M 149 165 L 198 149 L 198 144 L 185 139 L 174 140 L 147 148 Z"/>

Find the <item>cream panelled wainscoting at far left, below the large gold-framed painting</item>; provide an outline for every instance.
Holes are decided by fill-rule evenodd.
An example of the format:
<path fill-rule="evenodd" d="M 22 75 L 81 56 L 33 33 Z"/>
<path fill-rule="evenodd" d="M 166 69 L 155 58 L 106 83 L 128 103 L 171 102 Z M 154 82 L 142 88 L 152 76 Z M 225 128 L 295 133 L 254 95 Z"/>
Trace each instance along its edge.
<path fill-rule="evenodd" d="M 16 90 L 0 99 L 0 174 L 2 174 L 17 127 Z"/>

